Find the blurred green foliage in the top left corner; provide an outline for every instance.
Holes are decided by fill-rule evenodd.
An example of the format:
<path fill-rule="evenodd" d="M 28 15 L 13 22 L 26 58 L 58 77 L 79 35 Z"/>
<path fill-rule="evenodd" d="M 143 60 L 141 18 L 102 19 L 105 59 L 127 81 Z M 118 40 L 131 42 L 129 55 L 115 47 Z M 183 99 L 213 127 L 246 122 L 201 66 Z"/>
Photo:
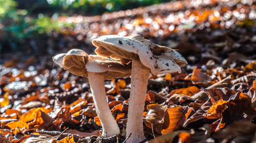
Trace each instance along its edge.
<path fill-rule="evenodd" d="M 23 43 L 27 38 L 41 38 L 51 35 L 53 31 L 60 32 L 62 27 L 73 26 L 72 23 L 59 22 L 41 13 L 38 17 L 32 17 L 33 8 L 15 9 L 15 6 L 13 0 L 0 0 L 0 52 L 6 41 L 12 50 L 16 50 L 18 43 Z"/>

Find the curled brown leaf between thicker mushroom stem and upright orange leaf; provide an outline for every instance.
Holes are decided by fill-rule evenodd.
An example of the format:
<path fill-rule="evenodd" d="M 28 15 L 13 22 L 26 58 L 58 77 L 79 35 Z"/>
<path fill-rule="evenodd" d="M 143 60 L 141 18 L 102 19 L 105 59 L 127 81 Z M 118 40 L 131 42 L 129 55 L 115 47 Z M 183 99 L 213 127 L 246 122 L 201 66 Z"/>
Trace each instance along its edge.
<path fill-rule="evenodd" d="M 167 110 L 167 106 L 161 106 L 159 104 L 150 104 L 146 106 L 148 112 L 146 114 L 145 125 L 148 128 L 152 128 L 158 133 L 161 134 L 162 125 L 164 123 L 164 115 Z"/>

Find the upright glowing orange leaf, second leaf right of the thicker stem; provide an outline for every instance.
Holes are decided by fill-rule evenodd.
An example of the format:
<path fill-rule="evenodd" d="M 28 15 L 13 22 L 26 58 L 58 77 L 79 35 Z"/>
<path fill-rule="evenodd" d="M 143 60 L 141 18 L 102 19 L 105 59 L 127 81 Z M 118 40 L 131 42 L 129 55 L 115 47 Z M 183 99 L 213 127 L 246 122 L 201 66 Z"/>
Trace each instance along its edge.
<path fill-rule="evenodd" d="M 191 111 L 192 108 L 188 106 L 176 106 L 168 108 L 164 116 L 162 134 L 166 134 L 176 129 L 179 129 L 183 125 Z"/>

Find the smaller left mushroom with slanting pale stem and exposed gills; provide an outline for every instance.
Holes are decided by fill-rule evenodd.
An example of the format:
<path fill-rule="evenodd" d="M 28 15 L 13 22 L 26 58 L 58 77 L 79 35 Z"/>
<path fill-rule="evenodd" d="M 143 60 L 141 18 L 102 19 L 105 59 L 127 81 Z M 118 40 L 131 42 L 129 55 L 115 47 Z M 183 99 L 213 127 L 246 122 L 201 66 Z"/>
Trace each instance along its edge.
<path fill-rule="evenodd" d="M 93 101 L 103 129 L 102 136 L 110 137 L 119 134 L 119 127 L 106 99 L 104 80 L 129 77 L 131 66 L 117 60 L 88 55 L 78 49 L 70 50 L 67 54 L 58 54 L 53 57 L 53 61 L 77 76 L 88 77 Z"/>

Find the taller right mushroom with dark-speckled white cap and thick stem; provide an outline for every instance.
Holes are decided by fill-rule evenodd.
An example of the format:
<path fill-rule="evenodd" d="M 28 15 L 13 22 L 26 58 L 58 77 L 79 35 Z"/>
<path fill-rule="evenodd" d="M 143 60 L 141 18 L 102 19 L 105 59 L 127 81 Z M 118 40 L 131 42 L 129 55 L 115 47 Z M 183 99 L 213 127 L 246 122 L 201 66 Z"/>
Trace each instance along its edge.
<path fill-rule="evenodd" d="M 132 61 L 130 102 L 126 125 L 127 142 L 140 142 L 143 133 L 143 110 L 150 71 L 153 75 L 181 71 L 186 60 L 176 51 L 144 39 L 140 35 L 105 35 L 92 41 L 95 53 L 121 63 Z"/>

